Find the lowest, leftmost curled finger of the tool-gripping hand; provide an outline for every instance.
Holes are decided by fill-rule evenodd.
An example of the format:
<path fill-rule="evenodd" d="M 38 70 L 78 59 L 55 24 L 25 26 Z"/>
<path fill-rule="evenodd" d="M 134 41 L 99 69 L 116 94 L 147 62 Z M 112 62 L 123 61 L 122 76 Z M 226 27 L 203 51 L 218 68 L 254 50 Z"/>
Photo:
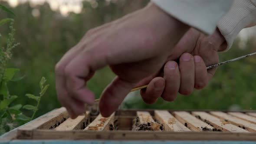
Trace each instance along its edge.
<path fill-rule="evenodd" d="M 141 89 L 141 97 L 147 104 L 154 104 L 164 91 L 164 79 L 156 77 L 149 82 L 146 89 Z"/>

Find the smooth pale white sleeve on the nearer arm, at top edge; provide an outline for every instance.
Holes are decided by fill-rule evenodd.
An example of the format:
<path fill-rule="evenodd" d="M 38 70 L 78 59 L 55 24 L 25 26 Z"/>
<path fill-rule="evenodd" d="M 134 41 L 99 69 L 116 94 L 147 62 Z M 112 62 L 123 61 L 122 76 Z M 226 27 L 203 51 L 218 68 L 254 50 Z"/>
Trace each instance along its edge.
<path fill-rule="evenodd" d="M 171 16 L 201 32 L 212 34 L 233 0 L 151 0 Z"/>

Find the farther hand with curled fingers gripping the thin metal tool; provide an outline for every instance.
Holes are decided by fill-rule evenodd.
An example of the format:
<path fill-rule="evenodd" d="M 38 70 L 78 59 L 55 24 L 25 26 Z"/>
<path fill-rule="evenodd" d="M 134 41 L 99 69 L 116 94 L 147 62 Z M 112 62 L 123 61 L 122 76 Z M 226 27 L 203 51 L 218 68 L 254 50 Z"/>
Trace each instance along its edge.
<path fill-rule="evenodd" d="M 143 100 L 148 104 L 153 104 L 159 97 L 174 101 L 178 93 L 190 95 L 194 88 L 204 88 L 217 69 L 207 70 L 206 65 L 219 63 L 218 50 L 225 46 L 225 39 L 218 29 L 211 36 L 205 36 L 190 28 L 167 58 L 164 72 L 149 76 L 136 85 L 149 84 L 141 90 Z M 174 61 L 176 59 L 179 64 Z"/>

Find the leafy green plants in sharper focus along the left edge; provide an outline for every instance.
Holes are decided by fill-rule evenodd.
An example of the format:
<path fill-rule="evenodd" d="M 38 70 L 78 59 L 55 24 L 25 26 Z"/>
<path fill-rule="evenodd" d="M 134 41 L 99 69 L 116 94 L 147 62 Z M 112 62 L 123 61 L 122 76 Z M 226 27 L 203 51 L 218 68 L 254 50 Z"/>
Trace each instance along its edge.
<path fill-rule="evenodd" d="M 7 9 L 3 5 L 0 5 L 0 10 L 4 10 L 7 13 L 14 15 L 12 11 Z M 7 61 L 12 57 L 12 49 L 19 45 L 18 43 L 15 43 L 14 39 L 14 21 L 9 18 L 3 19 L 0 21 L 0 26 L 10 21 L 10 33 L 7 38 L 7 45 L 6 47 L 2 47 L 0 49 L 0 135 L 12 130 L 13 128 L 16 128 L 17 126 L 20 126 L 21 124 L 25 124 L 26 122 L 31 121 L 34 118 L 36 111 L 38 110 L 41 97 L 44 95 L 47 88 L 49 87 L 49 85 L 44 85 L 46 79 L 43 77 L 39 83 L 39 87 L 41 89 L 41 91 L 39 92 L 39 96 L 26 94 L 28 98 L 32 98 L 36 101 L 36 106 L 22 106 L 22 104 L 14 105 L 14 101 L 18 98 L 18 96 L 10 95 L 7 83 L 21 80 L 24 76 L 14 78 L 14 76 L 17 72 L 20 71 L 20 69 L 7 68 Z M 31 117 L 24 115 L 23 112 L 20 111 L 21 108 L 33 111 L 33 115 Z"/>

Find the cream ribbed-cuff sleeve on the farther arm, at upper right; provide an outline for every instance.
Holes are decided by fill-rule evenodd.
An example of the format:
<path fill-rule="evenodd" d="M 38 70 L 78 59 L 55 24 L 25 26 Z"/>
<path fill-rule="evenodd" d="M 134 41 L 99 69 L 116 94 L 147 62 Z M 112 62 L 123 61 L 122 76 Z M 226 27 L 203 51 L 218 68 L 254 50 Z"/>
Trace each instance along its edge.
<path fill-rule="evenodd" d="M 217 27 L 226 39 L 227 51 L 232 46 L 238 33 L 246 27 L 256 25 L 256 0 L 234 0 L 229 12 L 220 19 Z"/>

